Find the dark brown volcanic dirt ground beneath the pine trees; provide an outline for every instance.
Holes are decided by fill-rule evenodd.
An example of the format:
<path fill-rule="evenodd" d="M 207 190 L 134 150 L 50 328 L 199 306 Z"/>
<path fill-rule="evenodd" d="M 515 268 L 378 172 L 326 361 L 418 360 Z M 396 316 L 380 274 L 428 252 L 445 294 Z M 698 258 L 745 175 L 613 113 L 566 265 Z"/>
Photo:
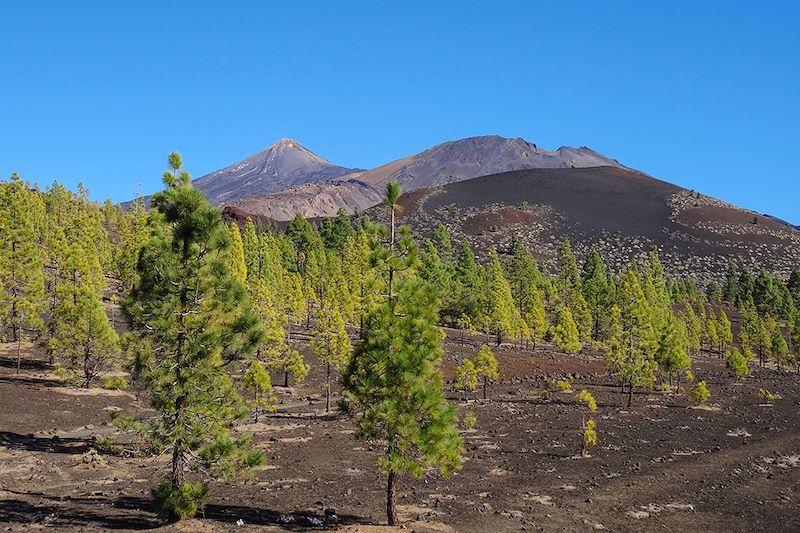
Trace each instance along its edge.
<path fill-rule="evenodd" d="M 445 373 L 477 351 L 448 332 Z M 633 407 L 602 373 L 599 356 L 554 354 L 549 347 L 496 351 L 501 369 L 461 413 L 463 469 L 447 479 L 404 477 L 400 518 L 414 531 L 800 531 L 798 376 L 754 369 L 735 382 L 714 357 L 695 361 L 712 398 L 695 407 L 685 395 L 642 391 Z M 148 416 L 146 398 L 62 387 L 44 356 L 0 345 L 0 531 L 300 531 L 322 528 L 335 509 L 342 531 L 385 531 L 380 449 L 357 441 L 353 424 L 324 413 L 323 371 L 291 390 L 276 389 L 280 409 L 247 421 L 268 463 L 249 482 L 212 483 L 204 514 L 162 525 L 149 488 L 166 457 L 95 452 L 108 435 L 135 448 L 110 424 L 122 410 Z M 314 364 L 313 358 L 309 356 Z M 546 380 L 574 374 L 574 390 L 597 396 L 599 445 L 579 457 L 581 407 L 569 392 L 542 397 Z M 280 382 L 280 380 L 277 380 Z M 763 404 L 766 388 L 779 397 Z M 138 397 L 137 397 L 138 394 Z M 241 521 L 237 525 L 237 521 Z"/>

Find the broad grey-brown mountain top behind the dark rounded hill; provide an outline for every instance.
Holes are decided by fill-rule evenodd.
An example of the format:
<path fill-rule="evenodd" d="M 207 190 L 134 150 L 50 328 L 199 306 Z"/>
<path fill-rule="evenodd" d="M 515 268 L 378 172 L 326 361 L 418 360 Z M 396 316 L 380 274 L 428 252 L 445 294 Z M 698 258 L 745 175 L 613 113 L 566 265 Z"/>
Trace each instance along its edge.
<path fill-rule="evenodd" d="M 439 144 L 369 170 L 358 179 L 376 187 L 396 180 L 409 191 L 511 170 L 600 166 L 621 165 L 586 147 L 550 151 L 524 139 L 486 135 Z"/>

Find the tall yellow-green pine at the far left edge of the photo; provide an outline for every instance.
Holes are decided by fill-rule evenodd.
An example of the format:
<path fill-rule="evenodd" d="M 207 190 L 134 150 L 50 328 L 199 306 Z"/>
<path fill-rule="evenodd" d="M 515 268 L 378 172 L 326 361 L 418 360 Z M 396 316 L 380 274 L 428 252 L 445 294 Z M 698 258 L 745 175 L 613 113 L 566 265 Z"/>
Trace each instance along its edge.
<path fill-rule="evenodd" d="M 0 317 L 17 343 L 17 372 L 22 361 L 23 338 L 31 337 L 43 326 L 45 308 L 42 256 L 38 249 L 36 193 L 13 174 L 0 185 Z"/>

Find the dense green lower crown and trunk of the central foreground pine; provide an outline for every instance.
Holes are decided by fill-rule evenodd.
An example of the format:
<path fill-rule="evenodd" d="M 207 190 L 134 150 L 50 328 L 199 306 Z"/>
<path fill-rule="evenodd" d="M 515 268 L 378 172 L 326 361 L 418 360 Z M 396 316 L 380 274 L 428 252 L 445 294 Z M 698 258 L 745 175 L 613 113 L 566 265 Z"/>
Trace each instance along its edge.
<path fill-rule="evenodd" d="M 385 446 L 386 511 L 397 523 L 396 477 L 423 474 L 427 466 L 447 475 L 461 465 L 457 415 L 442 393 L 442 334 L 436 295 L 424 282 L 403 280 L 392 298 L 374 307 L 342 385 L 357 436 Z"/>

